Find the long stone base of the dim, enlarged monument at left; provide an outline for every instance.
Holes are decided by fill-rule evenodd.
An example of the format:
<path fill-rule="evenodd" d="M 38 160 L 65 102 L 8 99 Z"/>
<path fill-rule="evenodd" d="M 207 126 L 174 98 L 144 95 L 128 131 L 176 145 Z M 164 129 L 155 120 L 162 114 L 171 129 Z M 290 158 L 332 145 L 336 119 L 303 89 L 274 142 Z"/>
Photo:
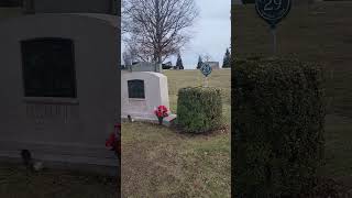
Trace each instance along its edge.
<path fill-rule="evenodd" d="M 0 141 L 0 161 L 21 164 L 21 150 L 29 150 L 44 168 L 120 176 L 120 160 L 106 147 Z"/>

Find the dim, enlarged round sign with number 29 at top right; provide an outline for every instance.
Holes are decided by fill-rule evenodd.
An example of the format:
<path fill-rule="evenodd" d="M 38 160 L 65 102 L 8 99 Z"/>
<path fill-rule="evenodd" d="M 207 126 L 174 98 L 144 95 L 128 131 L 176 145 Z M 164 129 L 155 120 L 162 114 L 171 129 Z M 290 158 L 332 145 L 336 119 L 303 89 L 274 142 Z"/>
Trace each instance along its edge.
<path fill-rule="evenodd" d="M 256 12 L 272 26 L 284 19 L 292 6 L 292 0 L 255 0 Z"/>

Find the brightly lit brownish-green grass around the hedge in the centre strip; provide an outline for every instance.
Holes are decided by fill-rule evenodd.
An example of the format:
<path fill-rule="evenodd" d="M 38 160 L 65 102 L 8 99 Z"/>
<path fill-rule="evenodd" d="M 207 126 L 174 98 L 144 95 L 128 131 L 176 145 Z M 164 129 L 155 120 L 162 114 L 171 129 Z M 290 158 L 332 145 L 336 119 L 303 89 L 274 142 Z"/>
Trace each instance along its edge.
<path fill-rule="evenodd" d="M 177 90 L 200 86 L 199 70 L 167 70 L 170 109 Z M 230 70 L 215 70 L 209 86 L 223 90 L 223 116 L 230 123 Z M 229 124 L 230 125 L 230 124 Z M 229 130 L 210 135 L 180 134 L 147 123 L 122 124 L 123 197 L 230 197 Z"/>

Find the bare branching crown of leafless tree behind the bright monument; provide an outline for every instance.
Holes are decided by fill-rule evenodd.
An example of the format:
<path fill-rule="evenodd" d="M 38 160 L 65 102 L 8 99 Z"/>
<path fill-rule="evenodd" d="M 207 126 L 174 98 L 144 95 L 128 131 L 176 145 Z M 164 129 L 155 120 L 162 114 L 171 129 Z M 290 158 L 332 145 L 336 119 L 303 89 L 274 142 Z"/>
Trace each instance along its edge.
<path fill-rule="evenodd" d="M 140 59 L 161 64 L 189 41 L 197 16 L 195 0 L 124 0 L 123 42 Z"/>

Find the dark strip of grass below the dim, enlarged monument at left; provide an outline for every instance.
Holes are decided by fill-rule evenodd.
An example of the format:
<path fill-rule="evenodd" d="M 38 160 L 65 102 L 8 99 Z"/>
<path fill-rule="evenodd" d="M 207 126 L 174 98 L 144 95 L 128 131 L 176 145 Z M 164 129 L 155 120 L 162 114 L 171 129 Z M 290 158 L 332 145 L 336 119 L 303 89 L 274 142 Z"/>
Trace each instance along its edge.
<path fill-rule="evenodd" d="M 117 198 L 117 180 L 97 175 L 0 165 L 1 198 Z"/>

